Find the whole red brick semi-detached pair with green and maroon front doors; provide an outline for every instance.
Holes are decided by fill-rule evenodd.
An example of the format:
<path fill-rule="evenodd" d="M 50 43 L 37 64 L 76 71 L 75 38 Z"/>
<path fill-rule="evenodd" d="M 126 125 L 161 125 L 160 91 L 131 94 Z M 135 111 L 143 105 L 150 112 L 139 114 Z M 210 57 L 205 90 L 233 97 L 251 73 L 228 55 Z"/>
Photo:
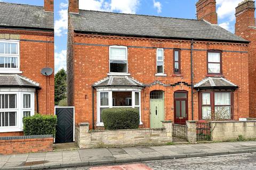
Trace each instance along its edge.
<path fill-rule="evenodd" d="M 217 25 L 215 0 L 197 20 L 78 9 L 69 0 L 68 104 L 75 123 L 103 126 L 101 112 L 133 107 L 141 128 L 162 120 L 249 117 L 249 41 Z"/>

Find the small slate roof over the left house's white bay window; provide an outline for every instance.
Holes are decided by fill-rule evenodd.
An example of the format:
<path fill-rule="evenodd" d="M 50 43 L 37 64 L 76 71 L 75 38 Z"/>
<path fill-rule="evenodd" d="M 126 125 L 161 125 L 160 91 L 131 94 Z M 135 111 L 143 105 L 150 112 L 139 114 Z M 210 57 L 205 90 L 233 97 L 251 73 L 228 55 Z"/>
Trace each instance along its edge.
<path fill-rule="evenodd" d="M 18 74 L 0 74 L 0 87 L 39 88 L 39 83 Z"/>

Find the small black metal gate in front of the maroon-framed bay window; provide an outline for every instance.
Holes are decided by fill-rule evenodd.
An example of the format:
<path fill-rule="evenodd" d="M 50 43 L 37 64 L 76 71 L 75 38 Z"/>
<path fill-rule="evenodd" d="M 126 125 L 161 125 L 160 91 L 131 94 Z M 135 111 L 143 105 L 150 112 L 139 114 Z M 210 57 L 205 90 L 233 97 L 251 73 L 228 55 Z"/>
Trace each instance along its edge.
<path fill-rule="evenodd" d="M 196 141 L 210 141 L 210 140 L 211 140 L 210 123 L 197 122 L 196 123 Z"/>

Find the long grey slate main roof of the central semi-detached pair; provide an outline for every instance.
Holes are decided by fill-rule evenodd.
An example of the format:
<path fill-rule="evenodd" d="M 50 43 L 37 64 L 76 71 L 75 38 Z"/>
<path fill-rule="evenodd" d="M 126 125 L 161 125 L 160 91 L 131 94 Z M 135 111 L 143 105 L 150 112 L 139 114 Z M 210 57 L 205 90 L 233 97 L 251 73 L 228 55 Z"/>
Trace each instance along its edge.
<path fill-rule="evenodd" d="M 203 20 L 79 10 L 70 13 L 74 31 L 109 35 L 249 41 Z"/>

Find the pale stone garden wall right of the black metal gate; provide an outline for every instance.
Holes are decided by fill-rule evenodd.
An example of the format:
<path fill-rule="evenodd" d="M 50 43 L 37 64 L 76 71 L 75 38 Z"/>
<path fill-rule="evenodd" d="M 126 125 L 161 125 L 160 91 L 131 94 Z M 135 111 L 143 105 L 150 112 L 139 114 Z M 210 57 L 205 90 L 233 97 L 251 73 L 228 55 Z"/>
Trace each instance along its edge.
<path fill-rule="evenodd" d="M 239 135 L 244 139 L 256 138 L 256 121 L 211 122 L 213 141 L 236 140 Z"/>

